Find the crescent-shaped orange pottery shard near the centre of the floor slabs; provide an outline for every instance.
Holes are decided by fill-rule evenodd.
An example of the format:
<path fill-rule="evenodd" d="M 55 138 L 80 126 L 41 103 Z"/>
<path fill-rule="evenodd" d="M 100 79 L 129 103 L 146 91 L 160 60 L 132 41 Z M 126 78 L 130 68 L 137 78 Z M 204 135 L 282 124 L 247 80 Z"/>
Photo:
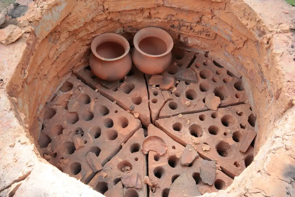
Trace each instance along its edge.
<path fill-rule="evenodd" d="M 167 144 L 158 136 L 148 136 L 142 142 L 141 150 L 144 154 L 148 154 L 148 151 L 156 151 L 159 155 L 166 153 Z"/>

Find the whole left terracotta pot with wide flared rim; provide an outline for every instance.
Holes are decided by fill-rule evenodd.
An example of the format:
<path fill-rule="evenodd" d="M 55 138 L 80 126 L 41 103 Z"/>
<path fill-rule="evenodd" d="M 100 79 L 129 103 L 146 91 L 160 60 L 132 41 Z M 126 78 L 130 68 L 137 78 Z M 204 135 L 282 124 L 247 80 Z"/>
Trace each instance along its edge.
<path fill-rule="evenodd" d="M 107 81 L 122 79 L 131 69 L 130 45 L 121 35 L 104 33 L 91 43 L 89 65 L 92 72 Z"/>

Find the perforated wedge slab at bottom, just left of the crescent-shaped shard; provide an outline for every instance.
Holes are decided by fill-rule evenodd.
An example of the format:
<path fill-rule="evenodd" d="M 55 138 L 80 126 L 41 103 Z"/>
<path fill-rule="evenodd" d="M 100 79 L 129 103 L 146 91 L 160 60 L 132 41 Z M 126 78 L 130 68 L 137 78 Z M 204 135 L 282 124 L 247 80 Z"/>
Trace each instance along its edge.
<path fill-rule="evenodd" d="M 88 184 L 94 190 L 110 197 L 114 197 L 118 190 L 122 196 L 134 193 L 138 197 L 147 197 L 147 187 L 143 183 L 146 176 L 147 164 L 145 154 L 141 151 L 141 143 L 145 138 L 143 129 L 137 130 L 125 143 L 122 149 L 99 171 Z M 119 182 L 123 184 L 114 191 L 108 190 Z M 131 190 L 131 191 L 130 191 Z M 106 193 L 105 193 L 106 192 Z"/>

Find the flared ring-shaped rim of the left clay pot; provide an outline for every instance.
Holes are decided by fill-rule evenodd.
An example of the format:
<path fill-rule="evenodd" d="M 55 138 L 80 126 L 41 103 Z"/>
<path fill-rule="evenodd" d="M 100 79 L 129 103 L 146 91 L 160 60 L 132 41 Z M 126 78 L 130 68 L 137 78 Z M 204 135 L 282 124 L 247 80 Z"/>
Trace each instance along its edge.
<path fill-rule="evenodd" d="M 119 56 L 119 57 L 116 57 L 116 58 L 104 58 L 104 57 L 100 56 L 99 54 L 97 54 L 96 53 L 96 48 L 101 43 L 108 42 L 108 41 L 113 41 L 113 42 L 116 42 L 116 43 L 120 44 L 121 46 L 123 46 L 123 48 L 125 49 L 125 53 L 123 55 Z M 93 39 L 93 41 L 91 42 L 91 47 L 90 48 L 91 48 L 91 52 L 97 58 L 99 58 L 101 60 L 104 60 L 104 61 L 116 61 L 118 59 L 122 59 L 130 51 L 130 45 L 129 45 L 129 42 L 127 41 L 127 39 L 124 38 L 122 35 L 119 35 L 119 34 L 116 34 L 116 33 L 103 33 L 103 34 L 100 34 L 100 35 L 96 36 Z"/>

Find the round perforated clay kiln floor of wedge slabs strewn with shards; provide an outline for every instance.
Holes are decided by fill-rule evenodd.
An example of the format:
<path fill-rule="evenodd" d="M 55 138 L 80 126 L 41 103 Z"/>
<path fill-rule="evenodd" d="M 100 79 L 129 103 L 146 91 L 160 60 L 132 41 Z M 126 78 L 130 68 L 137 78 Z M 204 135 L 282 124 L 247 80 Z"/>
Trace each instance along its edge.
<path fill-rule="evenodd" d="M 162 91 L 136 68 L 112 83 L 88 68 L 72 75 L 45 106 L 38 140 L 44 158 L 105 196 L 227 188 L 253 160 L 256 117 L 241 79 L 180 49 L 160 75 L 173 77 L 174 86 Z M 205 104 L 212 93 L 217 111 Z"/>

